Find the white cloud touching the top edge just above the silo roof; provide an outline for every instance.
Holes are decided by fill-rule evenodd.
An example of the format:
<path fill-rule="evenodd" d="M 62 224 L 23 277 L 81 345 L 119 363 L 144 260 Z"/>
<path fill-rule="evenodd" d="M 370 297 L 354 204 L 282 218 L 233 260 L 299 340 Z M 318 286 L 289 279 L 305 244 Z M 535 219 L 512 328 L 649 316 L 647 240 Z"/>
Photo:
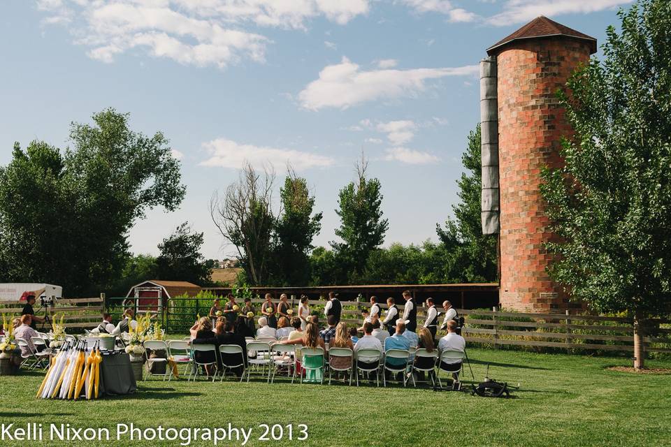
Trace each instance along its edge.
<path fill-rule="evenodd" d="M 510 24 L 528 22 L 539 15 L 594 13 L 614 8 L 633 0 L 508 0 L 503 11 L 487 19 L 489 24 L 503 27 Z"/>

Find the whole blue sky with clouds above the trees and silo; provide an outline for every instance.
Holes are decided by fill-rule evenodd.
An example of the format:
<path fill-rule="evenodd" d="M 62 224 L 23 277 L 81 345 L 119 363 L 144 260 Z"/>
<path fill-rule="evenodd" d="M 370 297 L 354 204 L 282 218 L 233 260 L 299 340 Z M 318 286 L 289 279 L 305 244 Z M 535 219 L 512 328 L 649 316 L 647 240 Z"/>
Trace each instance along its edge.
<path fill-rule="evenodd" d="M 64 148 L 71 121 L 113 107 L 170 138 L 187 185 L 180 210 L 136 223 L 136 253 L 188 220 L 206 257 L 232 254 L 208 203 L 245 160 L 274 166 L 278 183 L 287 161 L 308 179 L 326 245 L 362 151 L 382 182 L 385 244 L 435 240 L 458 200 L 486 47 L 537 15 L 603 43 L 628 3 L 0 0 L 0 165 L 13 142 Z"/>

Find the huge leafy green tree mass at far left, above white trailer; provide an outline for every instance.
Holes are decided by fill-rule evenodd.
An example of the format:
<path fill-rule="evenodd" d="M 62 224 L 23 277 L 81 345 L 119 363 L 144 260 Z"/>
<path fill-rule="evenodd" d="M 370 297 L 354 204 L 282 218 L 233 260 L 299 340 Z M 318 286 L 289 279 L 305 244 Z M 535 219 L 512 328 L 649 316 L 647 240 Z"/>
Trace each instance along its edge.
<path fill-rule="evenodd" d="M 106 290 L 129 256 L 127 235 L 146 210 L 174 210 L 185 188 L 162 133 L 129 129 L 113 109 L 71 125 L 64 153 L 15 144 L 0 168 L 0 266 L 10 281 L 50 282 L 70 296 Z"/>

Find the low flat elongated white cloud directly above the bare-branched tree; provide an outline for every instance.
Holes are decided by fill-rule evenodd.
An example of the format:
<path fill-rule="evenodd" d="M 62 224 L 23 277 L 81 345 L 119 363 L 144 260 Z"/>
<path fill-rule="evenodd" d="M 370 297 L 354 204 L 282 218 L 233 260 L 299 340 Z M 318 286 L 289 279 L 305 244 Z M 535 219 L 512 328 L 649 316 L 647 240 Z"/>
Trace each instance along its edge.
<path fill-rule="evenodd" d="M 201 166 L 220 166 L 223 168 L 241 168 L 245 162 L 252 166 L 285 166 L 287 162 L 296 170 L 308 168 L 326 168 L 335 161 L 329 156 L 302 152 L 295 149 L 245 145 L 226 138 L 203 143 L 210 158 L 202 161 Z"/>

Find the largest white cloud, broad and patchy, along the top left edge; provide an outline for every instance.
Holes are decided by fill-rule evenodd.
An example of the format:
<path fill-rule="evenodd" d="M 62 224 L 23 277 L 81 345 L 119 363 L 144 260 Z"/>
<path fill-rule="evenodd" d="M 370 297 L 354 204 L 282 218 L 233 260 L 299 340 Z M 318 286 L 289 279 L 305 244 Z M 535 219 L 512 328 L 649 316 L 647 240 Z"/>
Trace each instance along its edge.
<path fill-rule="evenodd" d="M 143 49 L 180 64 L 225 68 L 241 59 L 262 62 L 271 41 L 240 29 L 305 29 L 315 17 L 345 24 L 368 13 L 369 0 L 38 0 L 43 22 L 66 25 L 93 59 Z"/>

